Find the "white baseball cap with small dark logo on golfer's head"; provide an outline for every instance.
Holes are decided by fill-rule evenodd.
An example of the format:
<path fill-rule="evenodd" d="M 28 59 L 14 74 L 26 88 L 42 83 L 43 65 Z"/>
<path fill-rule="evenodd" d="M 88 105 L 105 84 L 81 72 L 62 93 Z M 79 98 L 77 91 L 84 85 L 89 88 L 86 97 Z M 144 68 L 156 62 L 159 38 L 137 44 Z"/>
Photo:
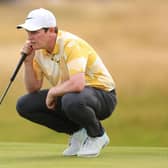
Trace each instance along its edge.
<path fill-rule="evenodd" d="M 28 31 L 49 27 L 56 27 L 56 18 L 52 12 L 43 8 L 32 10 L 28 14 L 25 23 L 17 26 L 18 29 L 23 28 Z"/>

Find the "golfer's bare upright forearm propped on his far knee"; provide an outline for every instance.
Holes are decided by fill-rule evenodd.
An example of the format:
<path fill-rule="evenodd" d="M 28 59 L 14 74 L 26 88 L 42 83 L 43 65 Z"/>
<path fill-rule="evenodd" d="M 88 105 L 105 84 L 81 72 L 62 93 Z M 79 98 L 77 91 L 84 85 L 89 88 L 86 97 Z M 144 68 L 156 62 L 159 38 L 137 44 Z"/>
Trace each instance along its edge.
<path fill-rule="evenodd" d="M 42 81 L 36 79 L 32 62 L 24 63 L 24 83 L 26 90 L 31 93 L 41 88 Z"/>

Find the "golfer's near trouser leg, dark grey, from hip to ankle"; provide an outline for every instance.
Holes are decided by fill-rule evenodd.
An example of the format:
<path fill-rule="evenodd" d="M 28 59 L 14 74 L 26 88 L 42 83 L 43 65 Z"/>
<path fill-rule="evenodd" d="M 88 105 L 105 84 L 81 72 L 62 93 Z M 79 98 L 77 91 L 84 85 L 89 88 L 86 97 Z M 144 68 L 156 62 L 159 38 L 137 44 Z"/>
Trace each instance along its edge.
<path fill-rule="evenodd" d="M 90 87 L 80 93 L 68 93 L 62 98 L 62 108 L 66 116 L 86 128 L 91 137 L 103 135 L 100 120 L 109 117 L 115 105 L 115 95 Z"/>

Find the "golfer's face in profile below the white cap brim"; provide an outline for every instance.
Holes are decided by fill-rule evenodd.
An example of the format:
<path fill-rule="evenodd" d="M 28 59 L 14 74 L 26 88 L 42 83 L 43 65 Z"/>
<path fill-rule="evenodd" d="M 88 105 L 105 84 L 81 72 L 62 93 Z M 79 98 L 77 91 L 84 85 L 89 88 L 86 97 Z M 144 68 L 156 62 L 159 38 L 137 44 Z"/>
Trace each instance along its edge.
<path fill-rule="evenodd" d="M 44 29 L 37 31 L 27 31 L 28 40 L 31 42 L 34 50 L 45 49 L 48 41 L 48 31 Z"/>

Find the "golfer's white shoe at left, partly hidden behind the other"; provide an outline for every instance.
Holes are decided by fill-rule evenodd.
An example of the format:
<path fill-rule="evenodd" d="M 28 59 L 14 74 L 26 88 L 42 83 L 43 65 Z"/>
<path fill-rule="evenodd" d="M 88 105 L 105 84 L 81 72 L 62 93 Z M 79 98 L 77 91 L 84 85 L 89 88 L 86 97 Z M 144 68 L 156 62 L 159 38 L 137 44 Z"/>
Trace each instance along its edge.
<path fill-rule="evenodd" d="M 87 132 L 84 128 L 72 134 L 70 138 L 69 147 L 64 150 L 64 156 L 75 156 L 77 155 L 81 145 L 87 138 Z"/>

